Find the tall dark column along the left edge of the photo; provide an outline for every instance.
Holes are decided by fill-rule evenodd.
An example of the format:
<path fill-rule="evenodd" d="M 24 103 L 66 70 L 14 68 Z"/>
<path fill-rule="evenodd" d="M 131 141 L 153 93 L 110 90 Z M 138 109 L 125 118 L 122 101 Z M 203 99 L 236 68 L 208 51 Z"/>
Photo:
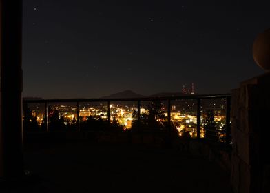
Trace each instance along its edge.
<path fill-rule="evenodd" d="M 23 177 L 22 0 L 0 0 L 0 178 Z"/>

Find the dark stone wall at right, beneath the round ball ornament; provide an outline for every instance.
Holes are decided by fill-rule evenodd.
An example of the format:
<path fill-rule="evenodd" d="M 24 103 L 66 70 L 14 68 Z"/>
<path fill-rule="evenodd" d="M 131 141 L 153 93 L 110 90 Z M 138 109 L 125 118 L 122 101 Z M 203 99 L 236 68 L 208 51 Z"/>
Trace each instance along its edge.
<path fill-rule="evenodd" d="M 232 90 L 233 152 L 231 185 L 235 193 L 270 192 L 270 74 Z"/>

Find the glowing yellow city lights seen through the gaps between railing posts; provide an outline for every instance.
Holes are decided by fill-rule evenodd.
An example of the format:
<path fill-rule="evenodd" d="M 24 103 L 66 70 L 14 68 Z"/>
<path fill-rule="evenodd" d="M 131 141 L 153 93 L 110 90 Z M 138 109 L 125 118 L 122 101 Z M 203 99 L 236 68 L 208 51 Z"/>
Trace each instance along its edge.
<path fill-rule="evenodd" d="M 149 108 L 149 105 L 153 105 L 154 103 L 146 103 L 145 105 L 141 105 L 140 114 L 141 120 L 145 119 L 145 117 L 149 116 L 153 108 Z M 158 125 L 165 126 L 168 118 L 167 112 L 167 104 L 160 102 L 160 110 L 158 112 L 162 112 L 161 116 L 154 116 Z M 216 133 L 219 138 L 225 137 L 225 110 L 224 105 L 222 103 L 217 103 L 216 101 L 209 102 L 207 104 L 208 108 L 212 108 L 214 113 L 214 124 L 216 125 Z M 59 119 L 61 117 L 64 118 L 65 125 L 74 124 L 74 121 L 77 121 L 77 109 L 74 105 L 53 105 L 50 107 L 51 111 L 48 112 L 48 116 L 52 116 L 52 111 L 59 111 Z M 123 130 L 129 130 L 132 128 L 134 121 L 138 120 L 138 109 L 136 103 L 132 105 L 127 105 L 125 103 L 111 103 L 110 104 L 110 122 L 116 121 L 118 125 L 120 125 Z M 190 110 L 191 109 L 191 110 Z M 205 127 L 207 126 L 207 110 L 201 111 L 201 128 L 200 128 L 200 137 L 205 137 Z M 181 101 L 181 105 L 174 103 L 171 109 L 171 121 L 172 127 L 178 131 L 179 136 L 183 136 L 184 132 L 188 132 L 191 137 L 197 137 L 197 114 L 196 114 L 196 103 L 194 101 Z M 44 122 L 44 111 L 37 106 L 32 110 L 32 116 L 37 118 L 37 123 L 39 126 Z M 79 109 L 80 121 L 83 123 L 84 121 L 88 121 L 90 117 L 91 119 L 103 119 L 107 121 L 108 112 L 107 112 L 107 103 L 96 103 L 94 104 L 85 104 L 81 105 Z M 49 121 L 50 123 L 50 121 Z"/>

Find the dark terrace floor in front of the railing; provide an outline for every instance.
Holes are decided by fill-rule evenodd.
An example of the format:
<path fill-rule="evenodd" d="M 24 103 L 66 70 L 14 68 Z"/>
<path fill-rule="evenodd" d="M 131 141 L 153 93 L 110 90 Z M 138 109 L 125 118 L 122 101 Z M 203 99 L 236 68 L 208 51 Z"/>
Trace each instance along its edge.
<path fill-rule="evenodd" d="M 231 192 L 215 163 L 169 148 L 91 143 L 33 145 L 31 176 L 0 192 Z"/>

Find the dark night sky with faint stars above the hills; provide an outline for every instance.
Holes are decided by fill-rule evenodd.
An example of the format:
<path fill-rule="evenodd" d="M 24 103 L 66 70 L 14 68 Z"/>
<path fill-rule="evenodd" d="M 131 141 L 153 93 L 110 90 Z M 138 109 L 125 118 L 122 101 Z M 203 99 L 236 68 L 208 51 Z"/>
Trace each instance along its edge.
<path fill-rule="evenodd" d="M 25 0 L 23 96 L 227 93 L 264 73 L 252 57 L 267 1 Z"/>

